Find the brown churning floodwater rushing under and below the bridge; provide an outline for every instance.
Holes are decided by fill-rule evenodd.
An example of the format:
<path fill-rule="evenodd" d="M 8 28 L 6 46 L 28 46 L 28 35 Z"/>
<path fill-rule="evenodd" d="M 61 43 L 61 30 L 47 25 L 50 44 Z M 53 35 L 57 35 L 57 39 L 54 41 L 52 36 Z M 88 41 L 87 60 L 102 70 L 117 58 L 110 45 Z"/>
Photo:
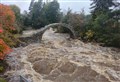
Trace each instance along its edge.
<path fill-rule="evenodd" d="M 29 34 L 29 33 L 28 33 Z M 83 43 L 68 34 L 46 31 L 41 43 L 14 49 L 5 73 L 9 82 L 19 75 L 30 82 L 120 82 L 120 51 Z"/>

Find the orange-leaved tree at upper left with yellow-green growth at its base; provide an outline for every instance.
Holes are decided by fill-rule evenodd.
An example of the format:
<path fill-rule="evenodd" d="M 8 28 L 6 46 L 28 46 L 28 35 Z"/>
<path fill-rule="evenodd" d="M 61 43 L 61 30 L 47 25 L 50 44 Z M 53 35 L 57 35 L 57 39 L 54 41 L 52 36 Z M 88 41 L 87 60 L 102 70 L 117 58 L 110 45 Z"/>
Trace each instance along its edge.
<path fill-rule="evenodd" d="M 15 28 L 15 14 L 12 9 L 0 4 L 0 29 L 3 33 L 0 34 L 0 38 L 9 46 L 15 46 L 18 39 L 12 33 Z M 14 40 L 14 41 L 13 41 Z"/>

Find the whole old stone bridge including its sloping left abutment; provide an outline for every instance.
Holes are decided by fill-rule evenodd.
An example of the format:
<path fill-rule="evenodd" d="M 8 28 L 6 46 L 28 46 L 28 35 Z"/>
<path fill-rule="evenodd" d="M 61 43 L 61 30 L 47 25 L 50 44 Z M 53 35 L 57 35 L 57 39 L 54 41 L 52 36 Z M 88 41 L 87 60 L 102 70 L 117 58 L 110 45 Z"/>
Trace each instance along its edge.
<path fill-rule="evenodd" d="M 20 37 L 20 39 L 26 43 L 40 42 L 42 40 L 42 36 L 43 36 L 44 32 L 46 30 L 48 30 L 49 28 L 55 27 L 55 26 L 65 27 L 69 31 L 70 38 L 73 38 L 73 39 L 75 38 L 75 32 L 74 32 L 72 26 L 65 24 L 65 23 L 52 23 L 52 24 L 46 25 L 45 27 L 37 30 L 32 35 L 27 36 L 27 37 L 22 36 L 22 37 Z"/>

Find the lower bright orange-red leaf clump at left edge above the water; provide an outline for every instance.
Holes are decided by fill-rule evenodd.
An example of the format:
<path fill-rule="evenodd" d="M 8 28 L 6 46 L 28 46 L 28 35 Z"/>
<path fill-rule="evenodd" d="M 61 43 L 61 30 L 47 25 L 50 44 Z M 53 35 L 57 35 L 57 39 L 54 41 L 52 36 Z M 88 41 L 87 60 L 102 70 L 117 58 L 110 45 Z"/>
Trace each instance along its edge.
<path fill-rule="evenodd" d="M 8 47 L 2 39 L 0 39 L 0 59 L 4 59 L 5 55 L 12 50 Z"/>

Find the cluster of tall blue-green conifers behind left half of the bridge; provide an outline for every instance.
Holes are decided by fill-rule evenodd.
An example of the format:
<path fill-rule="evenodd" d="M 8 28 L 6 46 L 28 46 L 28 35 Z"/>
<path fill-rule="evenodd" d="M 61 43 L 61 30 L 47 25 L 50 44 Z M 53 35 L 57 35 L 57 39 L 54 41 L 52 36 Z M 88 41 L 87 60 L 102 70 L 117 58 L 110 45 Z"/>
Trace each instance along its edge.
<path fill-rule="evenodd" d="M 31 0 L 29 10 L 24 13 L 24 25 L 33 29 L 60 21 L 60 6 L 57 0 L 46 3 L 43 0 Z"/>

